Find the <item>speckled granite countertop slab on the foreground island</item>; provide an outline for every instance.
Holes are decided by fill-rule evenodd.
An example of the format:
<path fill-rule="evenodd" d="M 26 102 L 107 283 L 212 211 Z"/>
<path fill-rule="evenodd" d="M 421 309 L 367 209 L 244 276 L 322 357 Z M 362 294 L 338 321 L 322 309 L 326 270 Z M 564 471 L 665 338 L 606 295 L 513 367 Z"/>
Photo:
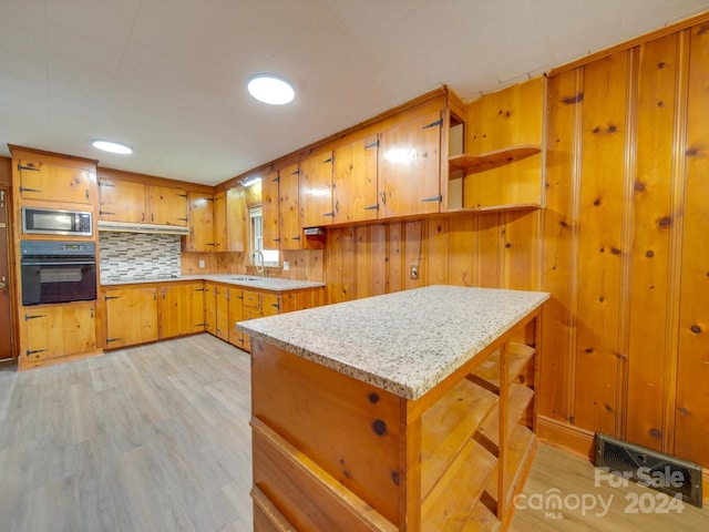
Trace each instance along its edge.
<path fill-rule="evenodd" d="M 328 368 L 418 399 L 540 307 L 546 293 L 429 286 L 240 321 Z"/>

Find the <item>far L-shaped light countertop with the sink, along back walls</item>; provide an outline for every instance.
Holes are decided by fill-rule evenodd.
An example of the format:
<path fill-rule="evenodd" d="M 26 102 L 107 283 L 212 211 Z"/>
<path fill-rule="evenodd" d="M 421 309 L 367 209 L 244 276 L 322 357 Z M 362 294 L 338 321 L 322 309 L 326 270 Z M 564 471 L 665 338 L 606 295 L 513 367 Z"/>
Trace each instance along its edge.
<path fill-rule="evenodd" d="M 280 277 L 258 277 L 254 275 L 240 274 L 179 275 L 162 277 L 109 277 L 101 280 L 101 286 L 135 285 L 142 283 L 173 283 L 179 280 L 209 280 L 214 283 L 224 283 L 227 285 L 237 285 L 270 291 L 288 291 L 325 286 L 325 283 L 315 283 L 310 280 L 292 280 L 282 279 Z"/>

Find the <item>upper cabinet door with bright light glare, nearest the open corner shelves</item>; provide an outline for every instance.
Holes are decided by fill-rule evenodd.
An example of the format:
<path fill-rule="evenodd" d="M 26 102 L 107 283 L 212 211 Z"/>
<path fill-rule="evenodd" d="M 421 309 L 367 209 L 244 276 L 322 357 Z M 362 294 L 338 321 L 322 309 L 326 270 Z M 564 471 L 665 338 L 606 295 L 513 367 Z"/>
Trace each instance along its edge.
<path fill-rule="evenodd" d="M 441 113 L 381 133 L 380 218 L 438 213 L 441 204 Z"/>

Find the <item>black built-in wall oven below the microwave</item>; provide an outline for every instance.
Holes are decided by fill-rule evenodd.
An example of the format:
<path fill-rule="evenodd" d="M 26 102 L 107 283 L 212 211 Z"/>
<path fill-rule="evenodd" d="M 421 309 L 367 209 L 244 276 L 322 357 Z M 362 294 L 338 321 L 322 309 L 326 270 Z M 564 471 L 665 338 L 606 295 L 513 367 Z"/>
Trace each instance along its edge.
<path fill-rule="evenodd" d="M 93 242 L 20 242 L 22 305 L 96 299 Z"/>

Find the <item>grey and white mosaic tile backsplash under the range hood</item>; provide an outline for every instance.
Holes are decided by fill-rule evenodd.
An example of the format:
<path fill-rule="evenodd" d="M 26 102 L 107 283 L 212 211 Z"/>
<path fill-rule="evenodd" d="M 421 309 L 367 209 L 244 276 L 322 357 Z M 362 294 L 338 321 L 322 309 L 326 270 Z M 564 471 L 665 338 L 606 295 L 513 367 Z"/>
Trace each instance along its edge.
<path fill-rule="evenodd" d="M 99 233 L 101 282 L 179 275 L 178 235 Z"/>

